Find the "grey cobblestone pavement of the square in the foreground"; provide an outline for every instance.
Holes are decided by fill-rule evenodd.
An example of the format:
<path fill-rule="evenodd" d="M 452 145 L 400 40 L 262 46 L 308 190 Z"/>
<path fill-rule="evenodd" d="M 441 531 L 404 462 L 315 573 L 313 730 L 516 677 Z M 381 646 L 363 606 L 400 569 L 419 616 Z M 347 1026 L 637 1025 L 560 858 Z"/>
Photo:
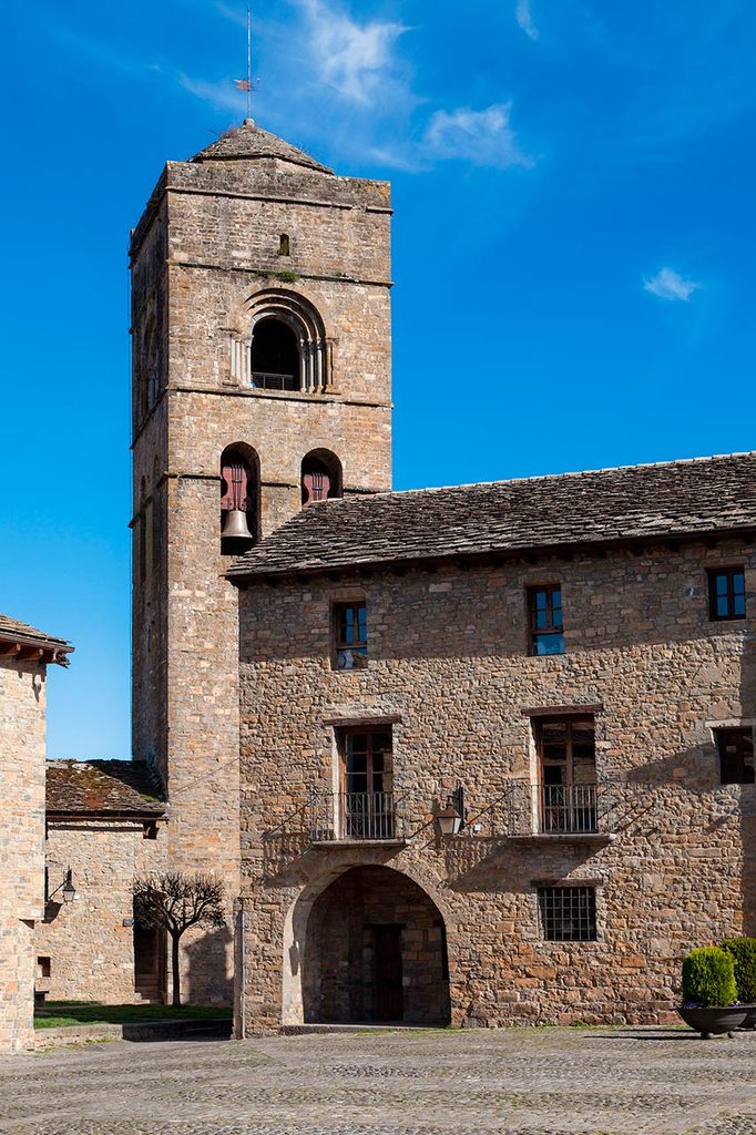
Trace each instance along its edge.
<path fill-rule="evenodd" d="M 366 1032 L 0 1058 L 14 1135 L 756 1135 L 756 1035 Z"/>

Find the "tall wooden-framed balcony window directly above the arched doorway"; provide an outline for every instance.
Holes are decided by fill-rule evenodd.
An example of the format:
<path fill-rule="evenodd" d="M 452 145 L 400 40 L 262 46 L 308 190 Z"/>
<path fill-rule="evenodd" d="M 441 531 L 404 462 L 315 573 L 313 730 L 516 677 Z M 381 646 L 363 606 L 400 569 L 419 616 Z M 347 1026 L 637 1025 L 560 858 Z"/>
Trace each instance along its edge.
<path fill-rule="evenodd" d="M 342 839 L 392 839 L 395 830 L 390 728 L 338 731 Z"/>

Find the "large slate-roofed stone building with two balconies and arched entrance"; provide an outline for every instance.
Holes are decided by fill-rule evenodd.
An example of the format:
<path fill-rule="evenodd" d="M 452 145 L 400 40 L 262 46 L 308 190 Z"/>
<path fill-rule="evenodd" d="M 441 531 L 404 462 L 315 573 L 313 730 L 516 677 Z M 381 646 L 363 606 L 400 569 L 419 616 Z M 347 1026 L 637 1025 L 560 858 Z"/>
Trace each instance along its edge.
<path fill-rule="evenodd" d="M 334 501 L 240 558 L 244 1028 L 667 1019 L 756 932 L 754 536 L 749 454 Z"/>

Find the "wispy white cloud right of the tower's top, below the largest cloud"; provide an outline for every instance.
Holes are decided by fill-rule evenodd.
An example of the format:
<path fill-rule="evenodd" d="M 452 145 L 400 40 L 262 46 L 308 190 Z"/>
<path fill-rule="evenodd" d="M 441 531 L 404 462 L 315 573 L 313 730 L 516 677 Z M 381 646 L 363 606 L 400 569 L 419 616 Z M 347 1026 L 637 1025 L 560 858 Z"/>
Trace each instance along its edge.
<path fill-rule="evenodd" d="M 520 149 L 510 126 L 511 109 L 511 102 L 502 102 L 485 110 L 437 110 L 426 127 L 422 151 L 431 158 L 459 158 L 474 166 L 530 168 L 535 160 Z"/>

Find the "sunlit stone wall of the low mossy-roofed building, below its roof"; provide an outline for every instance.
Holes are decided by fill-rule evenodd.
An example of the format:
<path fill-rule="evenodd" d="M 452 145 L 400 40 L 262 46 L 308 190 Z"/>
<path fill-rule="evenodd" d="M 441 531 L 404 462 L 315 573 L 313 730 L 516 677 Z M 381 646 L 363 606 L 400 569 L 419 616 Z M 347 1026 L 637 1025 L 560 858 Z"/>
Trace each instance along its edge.
<path fill-rule="evenodd" d="M 132 884 L 135 875 L 165 867 L 166 830 L 144 839 L 143 825 L 131 819 L 69 819 L 48 825 L 49 891 L 70 867 L 76 898 L 60 892 L 36 924 L 36 958 L 50 959 L 44 978 L 51 1000 L 138 1002 L 134 989 Z"/>

